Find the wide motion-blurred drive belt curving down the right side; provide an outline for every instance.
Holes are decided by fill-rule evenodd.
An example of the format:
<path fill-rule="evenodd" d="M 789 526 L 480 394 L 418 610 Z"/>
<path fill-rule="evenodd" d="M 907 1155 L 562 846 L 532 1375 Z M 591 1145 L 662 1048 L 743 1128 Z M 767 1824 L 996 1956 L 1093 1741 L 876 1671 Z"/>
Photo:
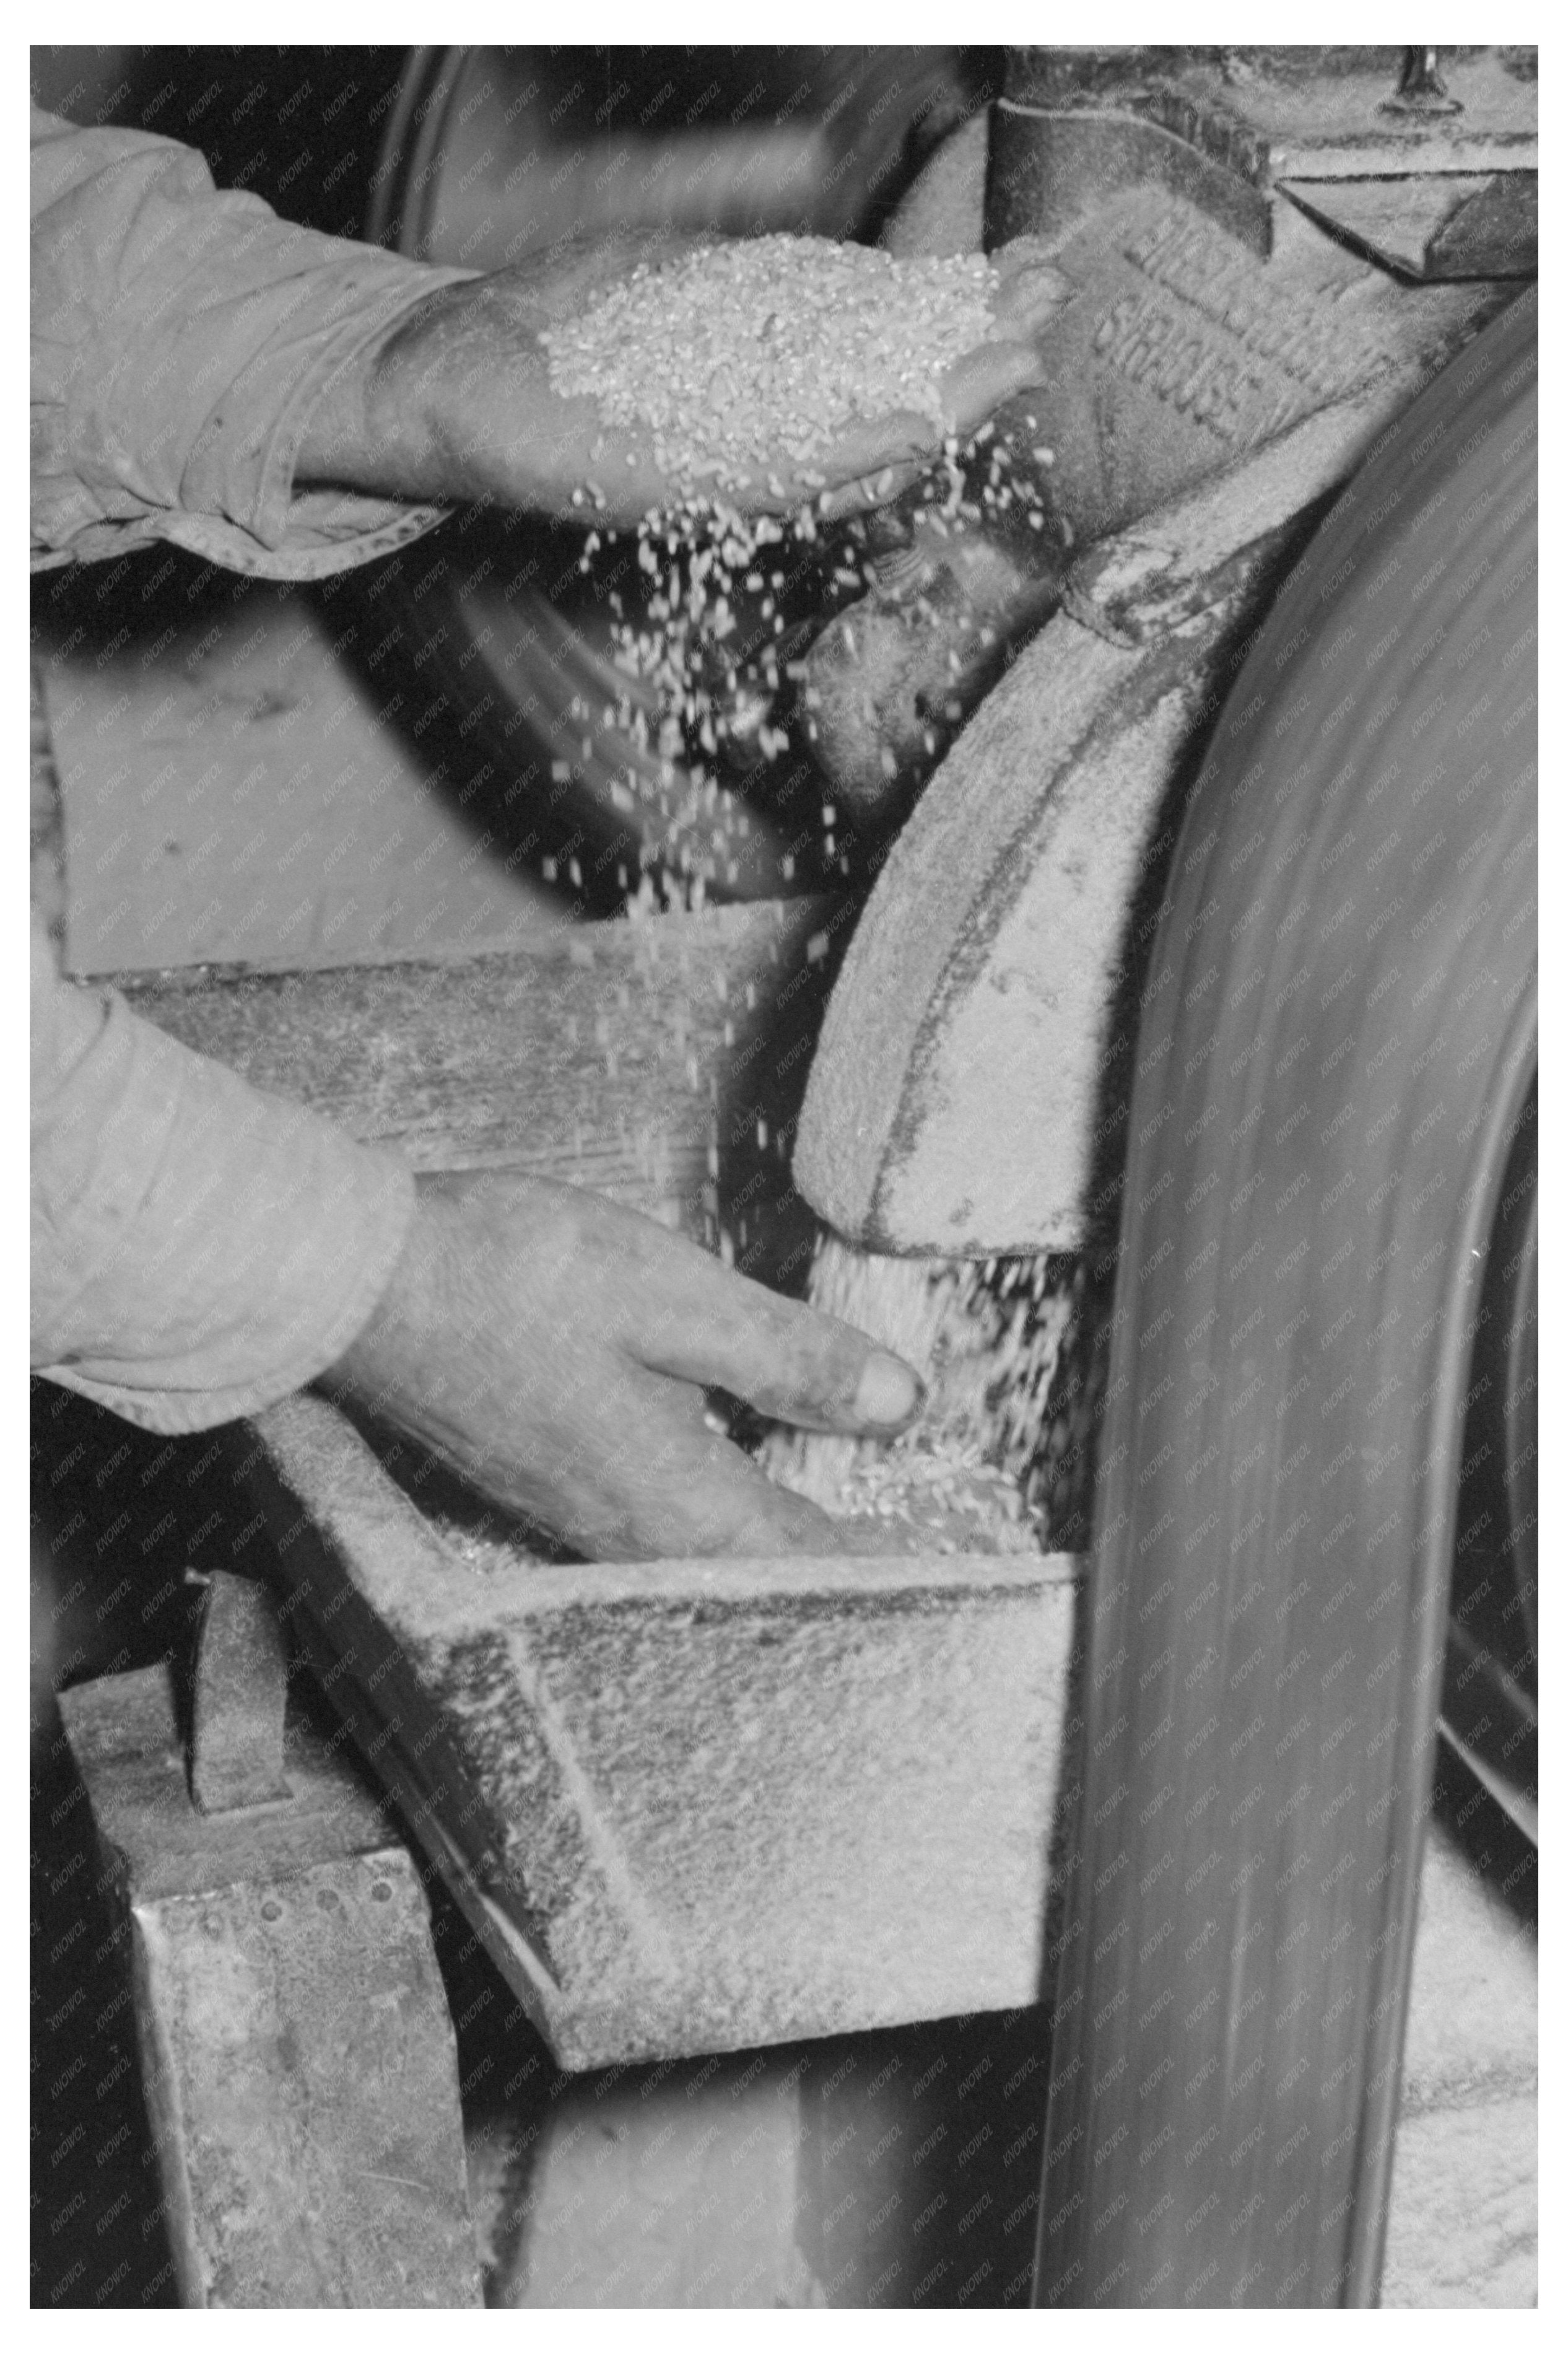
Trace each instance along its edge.
<path fill-rule="evenodd" d="M 1533 640 L 1523 297 L 1290 577 L 1175 852 L 1123 1196 L 1043 2302 L 1377 2295 L 1462 1438 L 1535 1071 Z M 1504 1321 L 1533 1525 L 1533 1318 Z"/>

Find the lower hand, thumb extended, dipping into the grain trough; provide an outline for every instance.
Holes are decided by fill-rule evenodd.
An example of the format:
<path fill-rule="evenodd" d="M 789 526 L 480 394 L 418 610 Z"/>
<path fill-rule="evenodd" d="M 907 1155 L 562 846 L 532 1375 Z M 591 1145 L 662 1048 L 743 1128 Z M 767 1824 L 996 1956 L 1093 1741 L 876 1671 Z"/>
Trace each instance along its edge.
<path fill-rule="evenodd" d="M 492 1172 L 419 1179 L 388 1292 L 325 1382 L 600 1561 L 866 1549 L 709 1429 L 706 1387 L 878 1438 L 923 1403 L 864 1332 L 598 1193 Z"/>

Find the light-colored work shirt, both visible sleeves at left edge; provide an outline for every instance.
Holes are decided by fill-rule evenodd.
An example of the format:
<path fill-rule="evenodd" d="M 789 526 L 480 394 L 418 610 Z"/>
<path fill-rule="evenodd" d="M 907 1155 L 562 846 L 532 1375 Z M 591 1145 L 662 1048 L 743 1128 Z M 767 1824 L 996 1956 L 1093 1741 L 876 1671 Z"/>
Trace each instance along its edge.
<path fill-rule="evenodd" d="M 440 520 L 297 485 L 294 461 L 334 374 L 473 271 L 297 228 L 219 193 L 172 139 L 38 108 L 31 214 L 33 570 L 172 539 L 315 579 Z M 35 906 L 33 1368 L 153 1431 L 254 1412 L 365 1328 L 412 1175 L 64 979 L 47 916 Z"/>

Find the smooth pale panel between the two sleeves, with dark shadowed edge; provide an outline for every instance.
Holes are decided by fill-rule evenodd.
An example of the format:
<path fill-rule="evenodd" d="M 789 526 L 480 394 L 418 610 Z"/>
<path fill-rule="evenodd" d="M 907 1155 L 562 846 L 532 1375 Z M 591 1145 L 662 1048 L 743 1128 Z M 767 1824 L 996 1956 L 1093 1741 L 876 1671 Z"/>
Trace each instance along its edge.
<path fill-rule="evenodd" d="M 457 765 L 374 572 L 306 588 L 167 546 L 134 563 L 118 593 L 94 565 L 33 584 L 68 972 L 473 956 L 549 932 L 539 847 L 518 850 L 480 753 Z"/>

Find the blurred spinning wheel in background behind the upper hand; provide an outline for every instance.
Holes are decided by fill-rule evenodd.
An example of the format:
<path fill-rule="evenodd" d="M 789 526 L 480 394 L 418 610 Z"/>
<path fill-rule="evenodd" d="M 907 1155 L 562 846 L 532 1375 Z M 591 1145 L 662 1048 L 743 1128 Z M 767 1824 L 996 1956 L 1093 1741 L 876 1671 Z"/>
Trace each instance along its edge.
<path fill-rule="evenodd" d="M 984 49 L 417 49 L 365 226 L 466 268 L 612 231 L 873 238 L 996 80 Z M 657 704 L 614 664 L 612 598 L 636 626 L 650 593 L 631 556 L 619 544 L 589 560 L 582 530 L 537 518 L 464 518 L 461 546 L 403 596 L 414 664 L 461 716 L 464 758 L 504 779 L 490 803 L 589 911 L 622 904 L 645 869 L 716 899 L 838 880 L 817 767 L 758 751 L 770 699 L 751 659 L 793 659 L 817 633 L 836 598 L 831 546 L 791 548 L 765 610 L 763 593 L 751 607 L 735 596 L 739 683 L 713 758 L 669 725 L 659 742 Z"/>

